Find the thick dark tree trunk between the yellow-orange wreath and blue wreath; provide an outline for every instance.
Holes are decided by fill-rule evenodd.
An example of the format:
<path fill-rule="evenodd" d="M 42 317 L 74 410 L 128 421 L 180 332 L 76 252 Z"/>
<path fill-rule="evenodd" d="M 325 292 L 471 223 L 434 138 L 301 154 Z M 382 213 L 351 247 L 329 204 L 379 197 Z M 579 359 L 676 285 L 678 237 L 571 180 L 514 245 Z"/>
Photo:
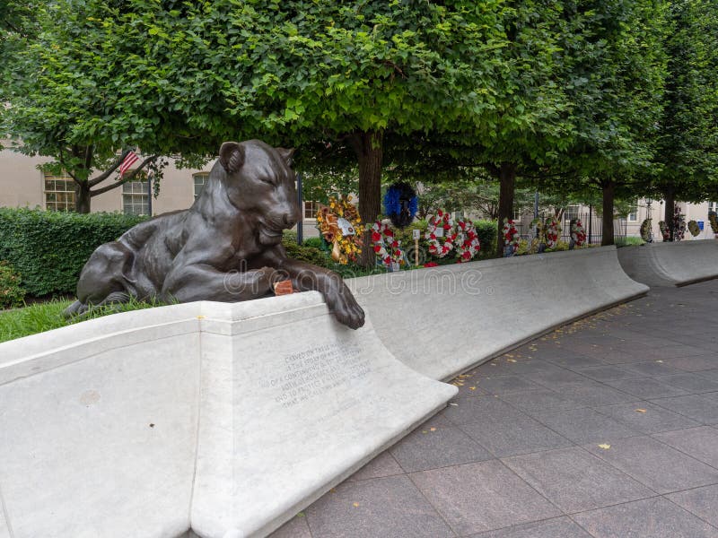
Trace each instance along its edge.
<path fill-rule="evenodd" d="M 350 137 L 359 163 L 359 215 L 364 224 L 371 224 L 381 213 L 382 141 L 382 131 L 355 133 Z M 369 232 L 364 231 L 362 256 L 359 258 L 363 267 L 376 264 L 371 237 Z"/>

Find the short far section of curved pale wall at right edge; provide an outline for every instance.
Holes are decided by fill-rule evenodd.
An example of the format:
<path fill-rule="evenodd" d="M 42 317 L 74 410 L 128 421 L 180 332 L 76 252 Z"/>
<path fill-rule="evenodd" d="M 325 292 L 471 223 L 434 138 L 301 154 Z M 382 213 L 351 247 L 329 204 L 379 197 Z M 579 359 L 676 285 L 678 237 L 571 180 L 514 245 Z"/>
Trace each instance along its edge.
<path fill-rule="evenodd" d="M 618 249 L 624 271 L 649 286 L 685 286 L 718 278 L 718 240 L 650 243 Z"/>

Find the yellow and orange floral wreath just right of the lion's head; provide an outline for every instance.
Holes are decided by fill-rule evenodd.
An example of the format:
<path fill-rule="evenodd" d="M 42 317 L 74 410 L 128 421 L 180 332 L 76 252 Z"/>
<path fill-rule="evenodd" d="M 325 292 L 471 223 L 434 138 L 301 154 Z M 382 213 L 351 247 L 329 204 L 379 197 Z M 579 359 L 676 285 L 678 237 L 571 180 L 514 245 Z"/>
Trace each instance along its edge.
<path fill-rule="evenodd" d="M 317 212 L 317 229 L 321 239 L 331 245 L 331 258 L 339 264 L 356 262 L 362 253 L 362 218 L 352 195 L 329 196 L 328 205 L 320 205 Z"/>

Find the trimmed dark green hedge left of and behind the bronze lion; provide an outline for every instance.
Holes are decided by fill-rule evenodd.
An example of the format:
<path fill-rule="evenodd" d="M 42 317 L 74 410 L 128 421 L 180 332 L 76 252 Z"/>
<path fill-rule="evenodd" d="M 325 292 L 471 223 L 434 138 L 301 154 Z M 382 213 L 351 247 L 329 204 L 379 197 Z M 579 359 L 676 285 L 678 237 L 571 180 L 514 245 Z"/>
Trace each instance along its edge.
<path fill-rule="evenodd" d="M 148 217 L 0 208 L 0 260 L 7 260 L 31 295 L 74 293 L 95 248 Z"/>

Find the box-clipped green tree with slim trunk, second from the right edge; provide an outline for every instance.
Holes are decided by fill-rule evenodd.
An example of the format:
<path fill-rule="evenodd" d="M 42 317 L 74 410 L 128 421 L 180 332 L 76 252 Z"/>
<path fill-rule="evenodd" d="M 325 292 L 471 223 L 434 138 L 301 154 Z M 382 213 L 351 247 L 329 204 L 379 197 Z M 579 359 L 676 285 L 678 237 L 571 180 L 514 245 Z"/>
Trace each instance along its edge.
<path fill-rule="evenodd" d="M 580 30 L 565 39 L 566 91 L 573 103 L 575 142 L 564 161 L 564 189 L 600 189 L 602 212 L 617 197 L 642 195 L 651 178 L 656 126 L 662 111 L 666 32 L 660 0 L 566 4 Z M 614 242 L 613 219 L 603 219 L 602 244 Z"/>

